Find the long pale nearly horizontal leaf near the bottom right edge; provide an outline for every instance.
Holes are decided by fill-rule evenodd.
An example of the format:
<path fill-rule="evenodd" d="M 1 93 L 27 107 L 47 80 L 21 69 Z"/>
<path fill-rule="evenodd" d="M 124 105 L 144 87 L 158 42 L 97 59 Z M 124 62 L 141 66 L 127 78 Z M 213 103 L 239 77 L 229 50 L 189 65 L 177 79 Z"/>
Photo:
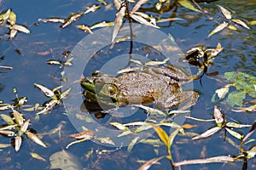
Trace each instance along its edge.
<path fill-rule="evenodd" d="M 179 161 L 179 162 L 173 163 L 173 166 L 180 167 L 183 165 L 190 165 L 190 164 L 214 163 L 214 162 L 233 162 L 233 161 L 235 161 L 235 158 L 230 157 L 230 156 L 215 156 L 215 157 L 209 157 L 206 159 Z"/>

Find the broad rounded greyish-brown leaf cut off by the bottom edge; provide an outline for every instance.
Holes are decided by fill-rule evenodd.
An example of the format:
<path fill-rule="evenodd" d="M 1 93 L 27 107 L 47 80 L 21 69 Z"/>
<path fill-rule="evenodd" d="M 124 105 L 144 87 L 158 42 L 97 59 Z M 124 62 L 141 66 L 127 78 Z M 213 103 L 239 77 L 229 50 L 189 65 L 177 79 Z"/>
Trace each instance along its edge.
<path fill-rule="evenodd" d="M 61 169 L 61 170 L 78 170 L 83 169 L 79 158 L 73 156 L 73 154 L 61 150 L 55 152 L 53 155 L 49 156 L 50 166 L 49 169 Z"/>

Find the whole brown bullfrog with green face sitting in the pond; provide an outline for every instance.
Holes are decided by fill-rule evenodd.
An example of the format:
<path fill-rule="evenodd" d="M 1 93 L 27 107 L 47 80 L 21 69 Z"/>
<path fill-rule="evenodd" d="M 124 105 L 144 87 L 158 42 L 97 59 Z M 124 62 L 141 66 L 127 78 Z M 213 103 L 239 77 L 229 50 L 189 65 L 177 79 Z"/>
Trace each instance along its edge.
<path fill-rule="evenodd" d="M 192 76 L 168 65 L 148 66 L 143 71 L 128 72 L 119 77 L 92 72 L 91 77 L 81 79 L 85 100 L 102 105 L 125 106 L 133 104 L 154 104 L 162 110 L 178 105 L 183 109 L 195 105 L 199 94 L 193 90 L 183 91 L 183 82 L 190 82 Z"/>

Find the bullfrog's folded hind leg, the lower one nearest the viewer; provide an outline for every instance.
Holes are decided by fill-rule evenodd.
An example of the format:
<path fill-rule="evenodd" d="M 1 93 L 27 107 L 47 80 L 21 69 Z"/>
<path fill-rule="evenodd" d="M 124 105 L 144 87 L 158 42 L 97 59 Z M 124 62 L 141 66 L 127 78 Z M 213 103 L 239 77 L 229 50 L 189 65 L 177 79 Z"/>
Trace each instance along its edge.
<path fill-rule="evenodd" d="M 180 106 L 178 110 L 186 110 L 195 105 L 199 94 L 193 90 L 183 91 L 169 96 L 161 96 L 156 102 L 156 107 L 160 109 L 172 109 Z"/>

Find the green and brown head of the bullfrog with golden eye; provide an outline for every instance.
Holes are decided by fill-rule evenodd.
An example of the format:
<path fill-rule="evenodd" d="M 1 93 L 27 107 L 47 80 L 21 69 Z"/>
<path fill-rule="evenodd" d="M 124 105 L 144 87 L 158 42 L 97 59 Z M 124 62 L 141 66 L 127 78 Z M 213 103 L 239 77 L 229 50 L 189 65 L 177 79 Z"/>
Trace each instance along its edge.
<path fill-rule="evenodd" d="M 119 87 L 116 78 L 104 75 L 102 71 L 94 71 L 91 77 L 85 77 L 80 82 L 84 88 L 84 96 L 91 102 L 113 105 L 118 102 Z"/>

